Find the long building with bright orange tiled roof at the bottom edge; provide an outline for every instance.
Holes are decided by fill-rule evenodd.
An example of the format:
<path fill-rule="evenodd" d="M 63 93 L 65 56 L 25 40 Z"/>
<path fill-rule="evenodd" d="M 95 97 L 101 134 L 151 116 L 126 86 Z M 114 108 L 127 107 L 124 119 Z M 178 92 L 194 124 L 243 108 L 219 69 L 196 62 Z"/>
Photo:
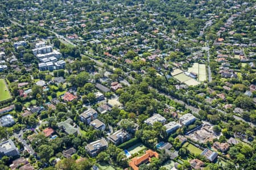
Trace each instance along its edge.
<path fill-rule="evenodd" d="M 158 152 L 147 150 L 146 154 L 131 159 L 129 162 L 129 167 L 133 168 L 134 170 L 139 170 L 139 165 L 150 162 L 152 157 L 159 158 Z"/>

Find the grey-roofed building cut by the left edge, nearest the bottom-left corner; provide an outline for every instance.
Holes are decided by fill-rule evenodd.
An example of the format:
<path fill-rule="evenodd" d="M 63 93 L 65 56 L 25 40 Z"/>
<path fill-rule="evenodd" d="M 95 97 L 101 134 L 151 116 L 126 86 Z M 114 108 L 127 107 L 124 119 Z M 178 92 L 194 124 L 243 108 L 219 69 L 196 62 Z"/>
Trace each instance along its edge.
<path fill-rule="evenodd" d="M 18 156 L 19 150 L 11 139 L 0 143 L 0 158 L 3 156 Z"/>

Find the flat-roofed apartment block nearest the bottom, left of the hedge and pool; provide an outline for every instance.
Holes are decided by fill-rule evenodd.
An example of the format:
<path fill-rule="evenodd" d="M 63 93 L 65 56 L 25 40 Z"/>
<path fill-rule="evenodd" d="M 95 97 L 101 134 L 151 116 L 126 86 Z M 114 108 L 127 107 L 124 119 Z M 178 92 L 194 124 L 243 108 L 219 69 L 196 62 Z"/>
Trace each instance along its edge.
<path fill-rule="evenodd" d="M 88 145 L 85 146 L 86 151 L 92 157 L 97 156 L 98 153 L 106 150 L 106 148 L 108 148 L 108 142 L 105 138 L 89 143 Z"/>

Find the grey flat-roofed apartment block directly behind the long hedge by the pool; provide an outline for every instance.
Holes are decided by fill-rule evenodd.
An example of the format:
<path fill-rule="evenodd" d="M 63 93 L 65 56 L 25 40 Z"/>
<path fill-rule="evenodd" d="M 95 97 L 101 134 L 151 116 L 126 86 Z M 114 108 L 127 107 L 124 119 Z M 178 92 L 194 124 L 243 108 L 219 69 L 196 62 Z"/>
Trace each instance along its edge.
<path fill-rule="evenodd" d="M 108 140 L 114 143 L 114 145 L 120 145 L 121 143 L 128 141 L 130 138 L 131 135 L 125 130 L 118 130 L 112 135 L 109 135 Z"/>

